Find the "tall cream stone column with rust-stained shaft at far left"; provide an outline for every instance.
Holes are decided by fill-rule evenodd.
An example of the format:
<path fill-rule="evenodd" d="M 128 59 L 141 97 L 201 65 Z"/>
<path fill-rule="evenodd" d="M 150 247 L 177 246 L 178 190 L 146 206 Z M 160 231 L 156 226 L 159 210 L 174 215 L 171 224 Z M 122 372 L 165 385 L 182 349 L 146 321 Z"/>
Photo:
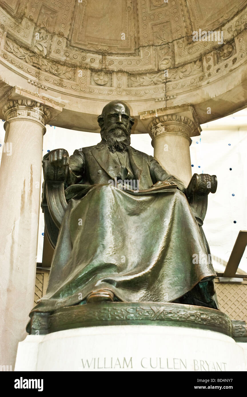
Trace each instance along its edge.
<path fill-rule="evenodd" d="M 33 308 L 42 142 L 50 112 L 34 100 L 8 100 L 0 167 L 0 365 L 14 370 Z"/>

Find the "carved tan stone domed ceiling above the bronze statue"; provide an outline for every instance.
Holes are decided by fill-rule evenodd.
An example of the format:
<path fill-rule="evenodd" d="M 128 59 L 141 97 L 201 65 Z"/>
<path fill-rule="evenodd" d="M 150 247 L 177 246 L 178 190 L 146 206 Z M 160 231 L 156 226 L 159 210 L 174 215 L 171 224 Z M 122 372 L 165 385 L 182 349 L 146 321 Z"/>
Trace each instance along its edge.
<path fill-rule="evenodd" d="M 200 123 L 247 102 L 247 1 L 0 1 L 2 95 L 13 86 L 63 108 L 54 125 L 98 131 L 125 100 L 137 116 L 191 103 Z M 193 41 L 193 31 L 224 39 Z M 211 113 L 206 109 L 210 106 Z M 92 122 L 93 120 L 93 122 Z"/>

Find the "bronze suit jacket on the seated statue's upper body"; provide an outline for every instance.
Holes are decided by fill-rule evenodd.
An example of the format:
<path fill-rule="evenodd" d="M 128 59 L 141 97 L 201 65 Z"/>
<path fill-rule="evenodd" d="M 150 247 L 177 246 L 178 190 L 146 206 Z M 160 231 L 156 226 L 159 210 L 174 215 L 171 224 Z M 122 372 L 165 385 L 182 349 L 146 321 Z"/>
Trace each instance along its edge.
<path fill-rule="evenodd" d="M 158 181 L 170 181 L 178 185 L 178 189 L 185 192 L 185 186 L 164 170 L 160 164 L 147 154 L 129 146 L 129 161 L 134 178 L 139 180 L 139 189 L 149 189 Z M 115 179 L 117 165 L 108 147 L 101 141 L 96 146 L 76 149 L 69 157 L 68 185 L 108 184 L 109 179 Z"/>

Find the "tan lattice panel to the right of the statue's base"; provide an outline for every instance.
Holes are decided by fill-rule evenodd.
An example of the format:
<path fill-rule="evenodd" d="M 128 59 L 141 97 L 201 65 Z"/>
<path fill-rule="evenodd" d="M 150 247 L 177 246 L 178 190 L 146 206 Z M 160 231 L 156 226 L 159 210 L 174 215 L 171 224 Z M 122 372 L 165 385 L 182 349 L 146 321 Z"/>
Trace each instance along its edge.
<path fill-rule="evenodd" d="M 232 320 L 247 322 L 247 284 L 215 283 L 222 312 Z"/>

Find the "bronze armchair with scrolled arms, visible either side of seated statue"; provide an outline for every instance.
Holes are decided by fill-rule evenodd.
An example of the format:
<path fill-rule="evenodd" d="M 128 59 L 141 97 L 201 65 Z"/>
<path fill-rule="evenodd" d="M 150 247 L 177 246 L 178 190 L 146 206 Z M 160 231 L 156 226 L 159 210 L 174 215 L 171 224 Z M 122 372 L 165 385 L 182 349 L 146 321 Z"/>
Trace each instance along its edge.
<path fill-rule="evenodd" d="M 68 166 L 61 175 L 49 172 L 49 161 L 43 159 L 44 183 L 42 191 L 42 211 L 44 212 L 45 232 L 53 248 L 56 246 L 58 233 L 66 208 L 65 185 Z M 186 197 L 199 226 L 203 225 L 208 205 L 208 194 L 215 193 L 217 189 L 216 175 L 195 173 L 186 189 Z"/>

